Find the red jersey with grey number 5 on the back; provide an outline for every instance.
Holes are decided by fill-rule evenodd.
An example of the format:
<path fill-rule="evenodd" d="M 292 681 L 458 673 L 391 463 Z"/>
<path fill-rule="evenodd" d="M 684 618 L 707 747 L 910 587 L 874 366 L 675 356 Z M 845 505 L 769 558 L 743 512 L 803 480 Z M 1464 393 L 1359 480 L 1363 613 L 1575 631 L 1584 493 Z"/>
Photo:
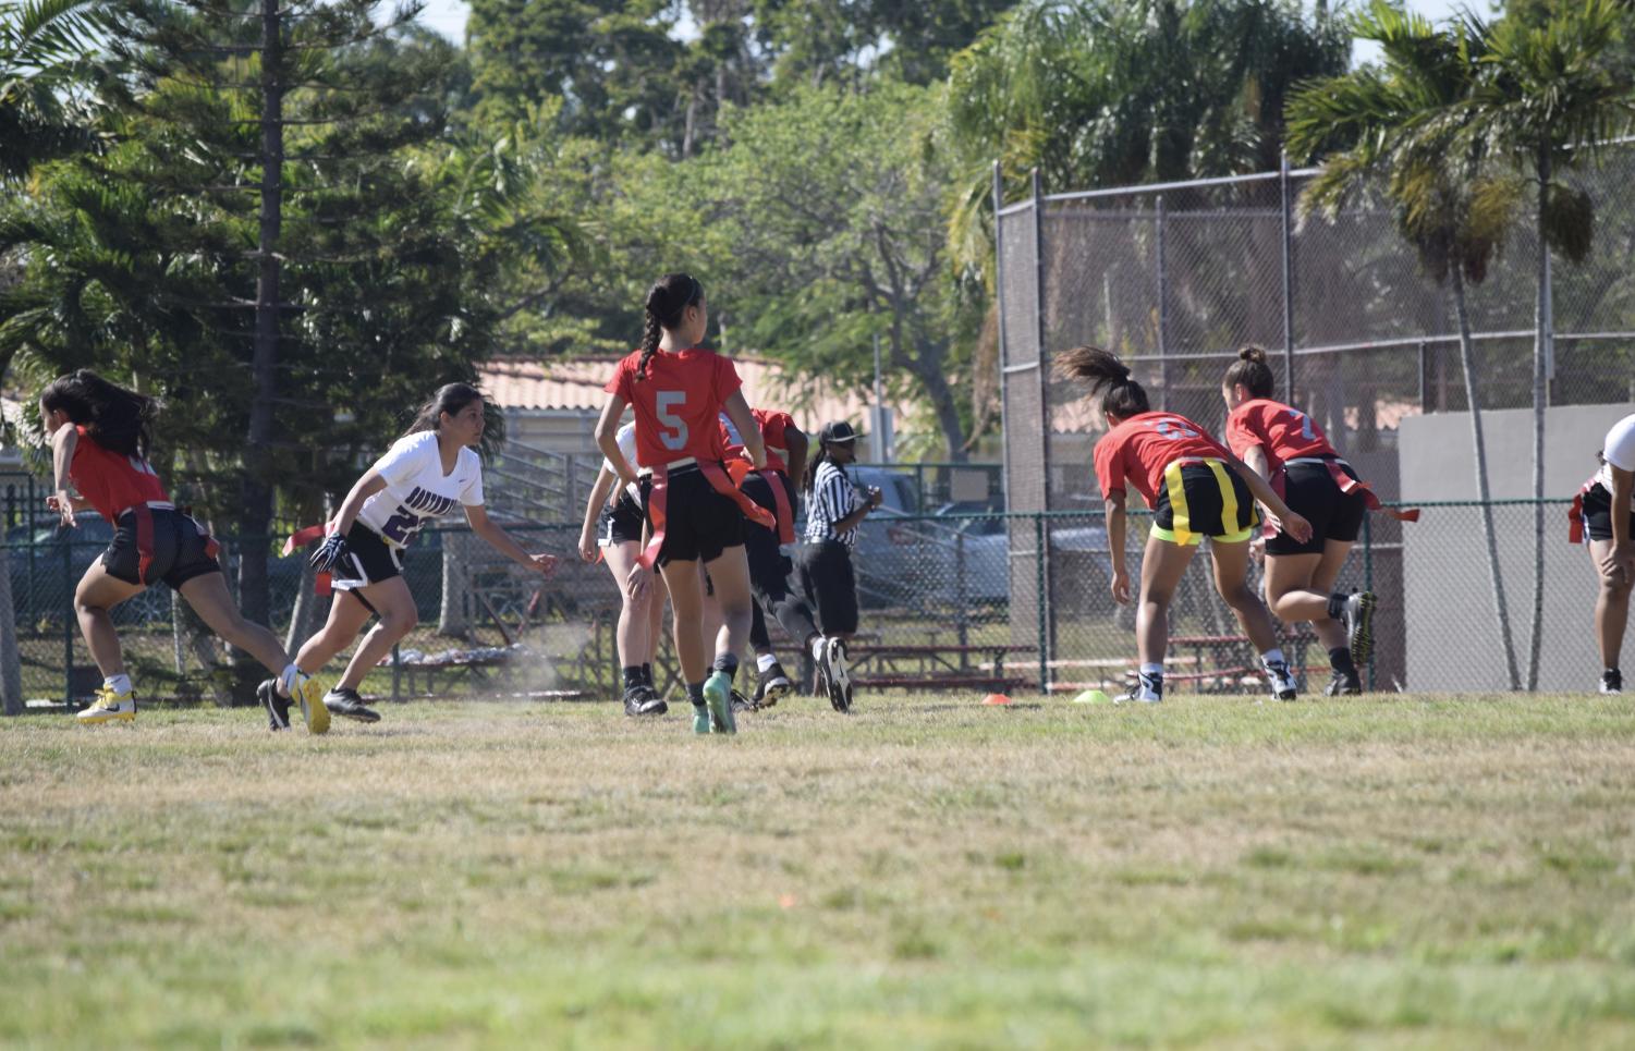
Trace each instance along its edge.
<path fill-rule="evenodd" d="M 721 459 L 716 417 L 744 386 L 732 361 L 695 347 L 654 353 L 646 379 L 636 379 L 639 364 L 641 351 L 631 351 L 603 387 L 636 410 L 636 466 L 657 467 L 688 456 Z"/>

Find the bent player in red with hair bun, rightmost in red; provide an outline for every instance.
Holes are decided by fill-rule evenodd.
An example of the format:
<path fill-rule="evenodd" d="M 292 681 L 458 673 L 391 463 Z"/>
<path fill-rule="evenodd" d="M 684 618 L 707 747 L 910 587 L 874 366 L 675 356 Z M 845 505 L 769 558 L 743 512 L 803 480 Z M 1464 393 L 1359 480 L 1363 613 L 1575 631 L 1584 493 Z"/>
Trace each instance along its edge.
<path fill-rule="evenodd" d="M 1372 494 L 1306 414 L 1272 400 L 1277 386 L 1265 351 L 1244 347 L 1226 369 L 1226 445 L 1311 523 L 1300 541 L 1267 530 L 1265 597 L 1287 623 L 1311 621 L 1329 652 L 1328 695 L 1362 693 L 1357 664 L 1373 649 L 1373 593 L 1341 595 L 1334 580 L 1362 530 Z"/>

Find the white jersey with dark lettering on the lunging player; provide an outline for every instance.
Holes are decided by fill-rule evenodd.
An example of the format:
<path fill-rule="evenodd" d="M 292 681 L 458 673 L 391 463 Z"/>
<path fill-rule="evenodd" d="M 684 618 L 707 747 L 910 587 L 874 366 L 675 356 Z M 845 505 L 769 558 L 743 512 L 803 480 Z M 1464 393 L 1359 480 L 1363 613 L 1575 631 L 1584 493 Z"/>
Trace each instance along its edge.
<path fill-rule="evenodd" d="M 482 459 L 466 446 L 443 474 L 437 432 L 404 435 L 374 461 L 386 489 L 363 502 L 358 521 L 394 548 L 407 544 L 427 523 L 456 507 L 482 507 Z"/>

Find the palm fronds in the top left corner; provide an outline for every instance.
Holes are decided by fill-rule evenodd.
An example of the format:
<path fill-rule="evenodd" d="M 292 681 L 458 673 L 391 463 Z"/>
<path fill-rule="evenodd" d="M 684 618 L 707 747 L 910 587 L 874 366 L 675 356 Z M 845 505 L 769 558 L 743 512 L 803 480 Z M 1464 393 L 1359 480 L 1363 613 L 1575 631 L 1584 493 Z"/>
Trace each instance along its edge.
<path fill-rule="evenodd" d="M 90 144 L 72 88 L 111 28 L 105 0 L 0 2 L 0 178 Z"/>

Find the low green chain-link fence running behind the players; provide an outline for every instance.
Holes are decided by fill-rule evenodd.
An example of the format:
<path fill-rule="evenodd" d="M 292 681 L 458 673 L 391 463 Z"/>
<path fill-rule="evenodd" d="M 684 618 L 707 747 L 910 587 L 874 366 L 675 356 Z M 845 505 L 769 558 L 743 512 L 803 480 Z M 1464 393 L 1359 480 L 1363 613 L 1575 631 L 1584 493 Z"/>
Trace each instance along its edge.
<path fill-rule="evenodd" d="M 1494 502 L 1499 530 L 1530 528 L 1529 500 Z M 1565 526 L 1565 500 L 1548 517 Z M 1378 690 L 1503 690 L 1494 662 L 1496 616 L 1485 592 L 1486 551 L 1472 543 L 1481 505 L 1468 500 L 1429 503 L 1413 526 L 1372 517 L 1342 587 L 1372 587 L 1382 595 L 1377 652 L 1368 669 Z M 1144 515 L 1130 521 L 1128 566 L 1141 570 Z M 531 551 L 551 551 L 562 564 L 541 580 L 477 541 L 464 528 L 422 534 L 404 556 L 420 626 L 394 660 L 378 669 L 365 690 L 376 696 L 553 696 L 616 700 L 615 623 L 620 597 L 607 566 L 577 557 L 579 531 L 566 525 L 510 526 Z M 1048 551 L 1046 559 L 1022 559 Z M 258 541 L 268 544 L 268 541 Z M 106 536 L 90 526 L 34 533 L 15 528 L 0 546 L 0 572 L 10 590 L 10 639 L 15 683 L 7 701 L 83 700 L 100 683 L 74 616 L 74 585 Z M 227 538 L 229 570 L 247 544 Z M 1172 608 L 1172 688 L 1182 691 L 1264 695 L 1256 655 L 1231 611 L 1216 597 L 1208 548 L 1189 570 Z M 1507 543 L 1506 572 L 1530 572 L 1530 549 Z M 1542 682 L 1548 690 L 1592 690 L 1599 670 L 1591 629 L 1596 575 L 1583 548 L 1565 528 L 1547 552 L 1547 608 Z M 1076 693 L 1120 690 L 1135 667 L 1133 610 L 1109 590 L 1112 556 L 1099 510 L 1022 513 L 885 515 L 865 525 L 857 552 L 862 634 L 853 665 L 863 703 L 885 703 L 886 690 Z M 1019 570 L 1032 587 L 1017 588 Z M 1257 569 L 1252 572 L 1259 572 Z M 1053 582 L 1050 616 L 1040 610 L 1043 582 Z M 293 644 L 322 623 L 327 600 L 312 597 L 311 572 L 299 556 L 273 559 L 273 628 Z M 1521 592 L 1522 588 L 1517 588 Z M 1020 593 L 1019 593 L 1020 592 Z M 1019 605 L 1033 603 L 1030 610 Z M 1524 597 L 1512 598 L 1512 623 L 1525 624 Z M 1033 634 L 1019 634 L 1028 613 Z M 227 703 L 244 700 L 227 649 L 186 613 L 165 587 L 154 587 L 114 613 L 128 665 L 152 700 Z M 291 624 L 299 626 L 291 631 Z M 5 628 L 0 618 L 0 628 Z M 790 670 L 800 646 L 773 641 Z M 1285 649 L 1301 669 L 1305 688 L 1328 680 L 1326 654 L 1306 629 L 1285 628 Z M 674 646 L 659 651 L 659 678 L 680 696 Z M 329 675 L 338 675 L 338 662 Z M 237 698 L 235 698 L 237 691 Z"/>

